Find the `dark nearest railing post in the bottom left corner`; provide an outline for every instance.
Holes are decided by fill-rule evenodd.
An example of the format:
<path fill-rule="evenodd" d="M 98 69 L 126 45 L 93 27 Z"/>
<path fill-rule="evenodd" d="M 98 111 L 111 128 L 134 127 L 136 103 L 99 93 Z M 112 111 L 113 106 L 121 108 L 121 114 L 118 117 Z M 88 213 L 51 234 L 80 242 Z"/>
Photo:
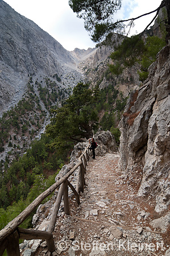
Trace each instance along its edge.
<path fill-rule="evenodd" d="M 6 251 L 7 256 L 20 256 L 19 235 L 17 231 L 7 237 Z"/>

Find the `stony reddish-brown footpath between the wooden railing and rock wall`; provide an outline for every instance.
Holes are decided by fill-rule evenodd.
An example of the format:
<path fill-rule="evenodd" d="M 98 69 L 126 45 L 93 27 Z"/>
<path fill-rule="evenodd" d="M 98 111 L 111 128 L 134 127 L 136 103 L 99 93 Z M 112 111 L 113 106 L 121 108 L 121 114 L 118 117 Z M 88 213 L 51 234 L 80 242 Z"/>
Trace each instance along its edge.
<path fill-rule="evenodd" d="M 56 255 L 165 255 L 168 233 L 150 225 L 154 202 L 136 197 L 141 171 L 128 179 L 118 168 L 119 154 L 97 156 L 88 162 L 81 204 L 71 203 L 71 216 L 57 218 Z M 43 242 L 36 255 L 50 255 Z M 167 255 L 167 254 L 166 254 Z"/>

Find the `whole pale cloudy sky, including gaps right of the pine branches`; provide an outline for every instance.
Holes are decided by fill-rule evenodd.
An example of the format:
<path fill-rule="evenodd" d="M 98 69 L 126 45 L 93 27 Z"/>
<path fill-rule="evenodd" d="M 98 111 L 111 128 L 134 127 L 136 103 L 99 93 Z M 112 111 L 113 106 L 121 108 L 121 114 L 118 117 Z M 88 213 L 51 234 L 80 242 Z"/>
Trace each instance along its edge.
<path fill-rule="evenodd" d="M 15 11 L 34 21 L 40 28 L 53 36 L 65 49 L 88 49 L 95 47 L 84 20 L 77 18 L 69 7 L 68 0 L 3 0 Z M 122 0 L 122 8 L 116 14 L 118 19 L 135 18 L 159 7 L 161 0 Z M 131 35 L 142 32 L 155 13 L 136 20 Z"/>

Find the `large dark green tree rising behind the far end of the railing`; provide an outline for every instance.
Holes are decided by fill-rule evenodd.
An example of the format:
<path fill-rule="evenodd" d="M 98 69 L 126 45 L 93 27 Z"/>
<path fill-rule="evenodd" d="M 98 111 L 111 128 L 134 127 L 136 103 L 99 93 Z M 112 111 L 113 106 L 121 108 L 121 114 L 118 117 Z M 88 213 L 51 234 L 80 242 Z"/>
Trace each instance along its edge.
<path fill-rule="evenodd" d="M 65 104 L 53 110 L 52 124 L 47 126 L 47 135 L 53 138 L 50 148 L 63 152 L 81 138 L 89 138 L 97 125 L 97 112 L 92 106 L 97 100 L 97 90 L 88 89 L 88 84 L 79 83 Z"/>

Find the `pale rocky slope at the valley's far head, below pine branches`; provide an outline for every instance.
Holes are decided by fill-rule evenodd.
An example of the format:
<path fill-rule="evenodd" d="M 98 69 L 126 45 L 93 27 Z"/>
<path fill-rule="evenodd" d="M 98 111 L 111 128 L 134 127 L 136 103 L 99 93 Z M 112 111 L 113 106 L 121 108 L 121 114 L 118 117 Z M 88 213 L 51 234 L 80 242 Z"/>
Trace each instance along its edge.
<path fill-rule="evenodd" d="M 126 68 L 119 76 L 112 75 L 108 67 L 108 64 L 113 64 L 110 54 L 114 52 L 115 47 L 122 43 L 123 39 L 125 36 L 113 34 L 111 46 L 89 48 L 86 52 L 74 49 L 71 53 L 73 57 L 78 58 L 77 68 L 90 82 L 90 86 L 98 85 L 100 89 L 103 89 L 110 84 L 115 84 L 123 96 L 127 97 L 131 90 L 139 88 L 139 64 L 136 63 L 133 67 Z"/>

